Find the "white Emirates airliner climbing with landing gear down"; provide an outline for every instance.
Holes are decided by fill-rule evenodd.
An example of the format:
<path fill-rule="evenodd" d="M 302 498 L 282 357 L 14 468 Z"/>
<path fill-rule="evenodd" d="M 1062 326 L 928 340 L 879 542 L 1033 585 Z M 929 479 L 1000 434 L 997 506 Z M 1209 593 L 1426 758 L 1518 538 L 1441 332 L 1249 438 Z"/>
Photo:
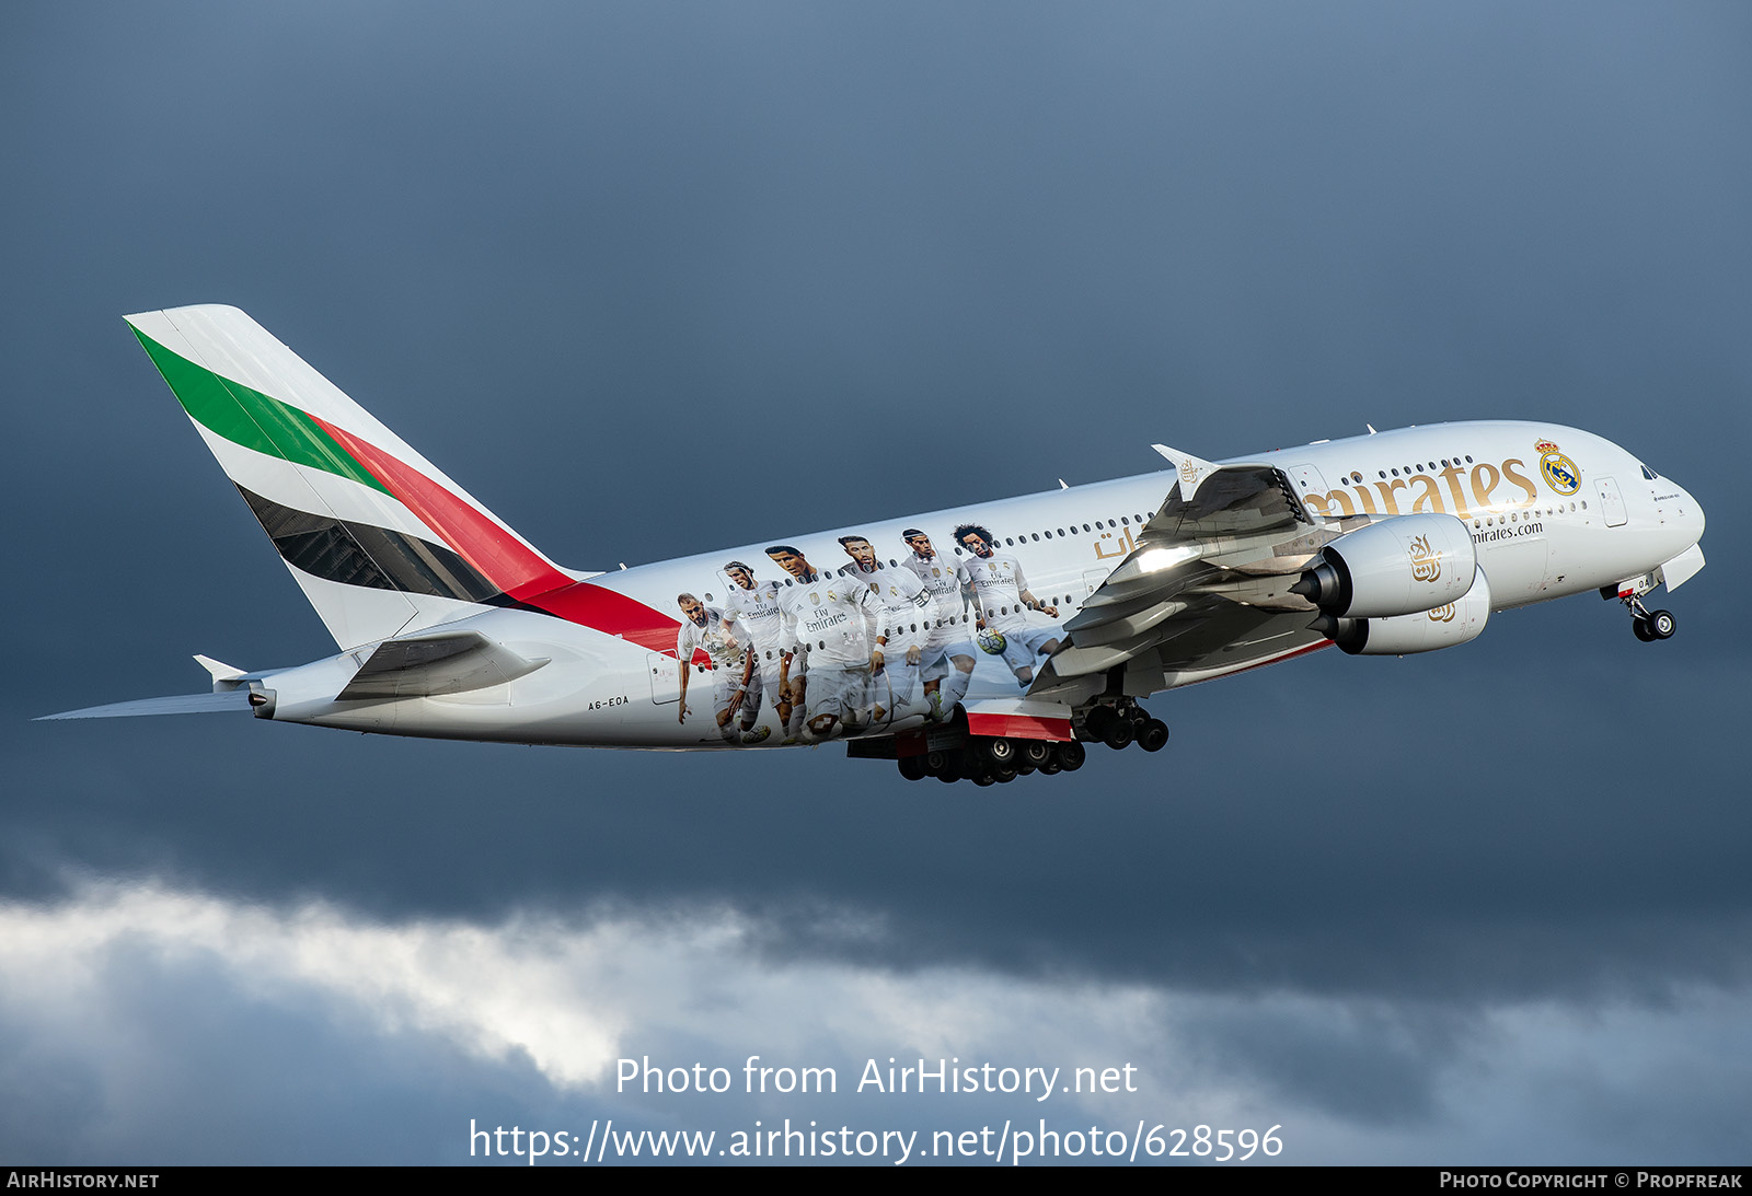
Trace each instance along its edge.
<path fill-rule="evenodd" d="M 1643 599 L 1703 511 L 1593 433 L 1437 424 L 615 573 L 548 560 L 244 312 L 128 322 L 340 651 L 51 718 L 251 709 L 392 735 L 611 748 L 844 739 L 908 779 L 1160 749 L 1151 693 L 1339 644 L 1463 644 L 1491 611 Z"/>

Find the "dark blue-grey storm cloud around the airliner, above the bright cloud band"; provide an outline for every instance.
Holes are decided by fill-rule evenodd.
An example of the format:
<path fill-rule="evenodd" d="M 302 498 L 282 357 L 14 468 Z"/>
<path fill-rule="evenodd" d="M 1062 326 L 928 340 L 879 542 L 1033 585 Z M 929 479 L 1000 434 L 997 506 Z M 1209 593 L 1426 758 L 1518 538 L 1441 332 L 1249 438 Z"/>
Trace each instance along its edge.
<path fill-rule="evenodd" d="M 1430 1024 L 1736 991 L 1748 25 L 28 7 L 0 46 L 0 886 L 151 876 L 385 919 L 732 905 L 774 965 L 1284 988 Z M 578 567 L 1151 469 L 1151 440 L 1468 417 L 1647 454 L 1708 511 L 1710 567 L 1666 644 L 1589 597 L 1501 613 L 1456 653 L 1160 695 L 1162 756 L 1000 795 L 832 748 L 28 725 L 200 688 L 193 651 L 329 650 L 119 320 L 194 301 L 249 310 Z M 729 515 L 722 462 L 753 480 Z M 1277 1061 L 1218 1054 L 1365 1122 L 1438 1107 L 1440 1035 L 1344 1024 L 1274 1012 Z"/>

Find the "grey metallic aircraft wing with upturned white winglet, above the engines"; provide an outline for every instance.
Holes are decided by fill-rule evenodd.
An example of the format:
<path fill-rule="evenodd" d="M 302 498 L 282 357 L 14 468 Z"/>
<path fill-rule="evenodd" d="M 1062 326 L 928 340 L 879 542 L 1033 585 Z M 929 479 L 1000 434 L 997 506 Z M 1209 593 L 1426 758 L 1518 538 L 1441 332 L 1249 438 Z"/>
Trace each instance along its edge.
<path fill-rule="evenodd" d="M 1339 532 L 1312 520 L 1268 462 L 1181 459 L 1181 478 L 1135 548 L 1069 622 L 1030 697 L 1077 702 L 1123 669 L 1134 697 L 1326 644 L 1314 609 L 1289 594 Z"/>

